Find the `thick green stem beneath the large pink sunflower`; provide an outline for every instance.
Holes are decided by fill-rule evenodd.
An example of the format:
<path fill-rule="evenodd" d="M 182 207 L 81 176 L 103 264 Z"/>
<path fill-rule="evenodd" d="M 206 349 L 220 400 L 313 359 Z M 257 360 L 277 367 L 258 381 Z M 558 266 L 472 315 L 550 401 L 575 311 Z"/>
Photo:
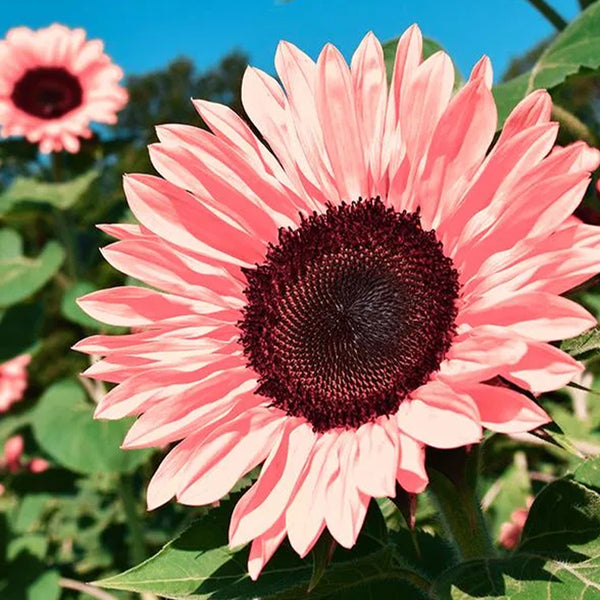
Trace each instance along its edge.
<path fill-rule="evenodd" d="M 462 461 L 456 460 L 457 451 L 438 453 L 436 467 L 428 469 L 429 491 L 460 558 L 492 557 L 494 547 L 477 496 L 478 448 L 461 450 Z M 444 462 L 444 452 L 452 456 L 448 462 Z"/>

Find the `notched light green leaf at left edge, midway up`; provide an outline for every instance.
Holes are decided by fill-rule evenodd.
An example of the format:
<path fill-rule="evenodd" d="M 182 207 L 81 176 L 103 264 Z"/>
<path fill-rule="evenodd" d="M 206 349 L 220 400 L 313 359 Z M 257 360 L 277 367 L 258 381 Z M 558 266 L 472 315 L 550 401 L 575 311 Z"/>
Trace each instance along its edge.
<path fill-rule="evenodd" d="M 12 230 L 0 231 L 0 306 L 25 300 L 42 288 L 62 264 L 65 253 L 55 241 L 48 242 L 37 258 L 23 256 L 19 235 Z"/>

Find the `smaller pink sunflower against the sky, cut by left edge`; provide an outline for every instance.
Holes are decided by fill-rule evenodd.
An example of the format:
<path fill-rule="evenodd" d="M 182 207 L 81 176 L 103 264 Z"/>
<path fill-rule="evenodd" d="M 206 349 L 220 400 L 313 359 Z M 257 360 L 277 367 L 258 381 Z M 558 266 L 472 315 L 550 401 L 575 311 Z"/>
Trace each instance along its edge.
<path fill-rule="evenodd" d="M 77 152 L 91 121 L 116 123 L 127 92 L 103 48 L 83 29 L 11 29 L 0 41 L 2 135 L 25 136 L 45 153 Z"/>

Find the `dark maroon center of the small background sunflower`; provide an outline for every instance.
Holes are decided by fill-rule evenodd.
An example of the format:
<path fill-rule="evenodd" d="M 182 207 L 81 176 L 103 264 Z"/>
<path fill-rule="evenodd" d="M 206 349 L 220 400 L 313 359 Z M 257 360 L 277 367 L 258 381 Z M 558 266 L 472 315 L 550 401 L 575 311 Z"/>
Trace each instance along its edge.
<path fill-rule="evenodd" d="M 40 119 L 58 119 L 77 108 L 83 90 L 77 77 L 61 67 L 29 69 L 11 95 L 15 106 Z"/>

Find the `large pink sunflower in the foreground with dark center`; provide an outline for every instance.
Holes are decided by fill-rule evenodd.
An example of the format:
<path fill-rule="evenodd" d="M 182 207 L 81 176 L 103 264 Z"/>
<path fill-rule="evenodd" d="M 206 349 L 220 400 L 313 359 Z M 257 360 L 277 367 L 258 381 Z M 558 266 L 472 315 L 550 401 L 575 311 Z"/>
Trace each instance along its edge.
<path fill-rule="evenodd" d="M 425 447 L 550 421 L 530 399 L 581 365 L 548 342 L 595 324 L 560 294 L 598 270 L 600 228 L 571 213 L 600 162 L 553 149 L 538 91 L 494 147 L 487 58 L 453 96 L 450 58 L 400 39 L 388 89 L 369 34 L 351 66 L 288 43 L 283 89 L 249 68 L 245 110 L 195 106 L 211 132 L 158 128 L 162 175 L 131 175 L 139 225 L 104 249 L 152 286 L 80 299 L 136 328 L 92 336 L 86 374 L 118 384 L 96 416 L 138 416 L 123 446 L 178 442 L 148 488 L 210 504 L 264 463 L 237 503 L 230 545 L 260 573 L 287 536 L 305 556 L 325 528 L 351 547 L 373 497 L 426 487 Z"/>

